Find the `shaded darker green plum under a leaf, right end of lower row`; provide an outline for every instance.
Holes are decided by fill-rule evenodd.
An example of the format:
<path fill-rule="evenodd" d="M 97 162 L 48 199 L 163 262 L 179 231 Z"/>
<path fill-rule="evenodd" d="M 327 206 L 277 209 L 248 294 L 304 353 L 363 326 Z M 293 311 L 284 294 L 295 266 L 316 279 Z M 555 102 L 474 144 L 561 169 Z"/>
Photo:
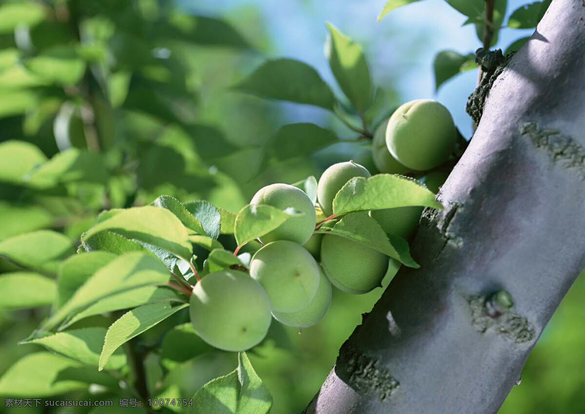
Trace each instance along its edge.
<path fill-rule="evenodd" d="M 335 234 L 321 241 L 321 265 L 333 286 L 346 293 L 362 294 L 381 286 L 388 256 Z"/>

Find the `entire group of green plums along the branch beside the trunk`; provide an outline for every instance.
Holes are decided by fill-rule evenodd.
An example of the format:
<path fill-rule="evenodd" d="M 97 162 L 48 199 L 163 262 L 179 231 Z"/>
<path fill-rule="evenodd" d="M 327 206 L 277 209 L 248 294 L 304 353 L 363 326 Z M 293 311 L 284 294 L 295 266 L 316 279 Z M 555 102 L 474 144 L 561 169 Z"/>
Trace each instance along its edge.
<path fill-rule="evenodd" d="M 381 135 L 388 143 L 383 149 L 377 147 Z M 455 127 L 441 104 L 414 101 L 402 105 L 387 126 L 378 128 L 373 145 L 374 162 L 382 172 L 422 171 L 440 165 L 452 153 Z M 339 190 L 352 178 L 370 176 L 364 166 L 352 161 L 330 166 L 317 185 L 318 206 L 291 185 L 260 189 L 250 201 L 252 206 L 292 208 L 301 214 L 260 236 L 263 246 L 252 256 L 249 274 L 220 270 L 195 285 L 190 316 L 201 338 L 219 349 L 246 350 L 264 339 L 273 317 L 299 328 L 321 321 L 331 304 L 331 285 L 351 294 L 381 286 L 388 256 L 336 234 L 315 232 L 322 221 L 335 217 L 333 199 Z M 417 214 L 405 210 L 413 208 Z M 370 214 L 385 232 L 407 239 L 421 211 L 422 207 L 401 207 L 363 214 Z M 395 263 L 393 266 L 397 268 Z"/>

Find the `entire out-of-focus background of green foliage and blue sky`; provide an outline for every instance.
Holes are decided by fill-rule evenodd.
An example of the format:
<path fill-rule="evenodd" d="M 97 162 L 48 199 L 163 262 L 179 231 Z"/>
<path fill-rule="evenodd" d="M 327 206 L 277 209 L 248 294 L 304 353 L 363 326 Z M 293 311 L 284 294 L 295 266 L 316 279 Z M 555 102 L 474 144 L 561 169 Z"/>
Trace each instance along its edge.
<path fill-rule="evenodd" d="M 75 154 L 94 155 L 78 155 L 67 165 L 56 162 L 59 171 L 44 173 L 50 183 L 36 186 L 2 175 L 25 159 L 3 159 L 0 241 L 53 228 L 78 242 L 99 211 L 147 204 L 160 194 L 181 201 L 206 199 L 237 212 L 264 185 L 318 176 L 331 163 L 362 154 L 367 148 L 358 142 L 340 142 L 259 171 L 262 144 L 284 124 L 312 122 L 347 139 L 355 133 L 323 109 L 263 100 L 232 88 L 266 58 L 284 56 L 315 67 L 341 95 L 323 53 L 325 22 L 362 44 L 374 84 L 385 91 L 372 126 L 402 102 L 433 98 L 449 108 L 464 137 L 472 134 L 464 105 L 477 72 L 464 72 L 437 92 L 432 62 L 440 50 L 467 54 L 481 45 L 473 25 L 462 26 L 464 16 L 441 0 L 397 9 L 380 22 L 376 18 L 384 2 L 379 0 L 4 1 L 0 6 L 8 3 L 29 8 L 22 9 L 24 23 L 3 26 L 0 19 L 0 144 L 29 142 L 45 158 L 71 148 L 80 151 Z M 522 4 L 508 1 L 508 13 Z M 44 14 L 31 18 L 31 5 L 45 8 Z M 229 26 L 204 24 L 190 15 Z M 531 32 L 503 29 L 497 47 L 505 49 Z M 222 242 L 235 247 L 228 239 Z M 19 269 L 0 256 L 0 272 Z M 335 290 L 325 319 L 302 332 L 273 323 L 268 338 L 249 352 L 274 396 L 273 413 L 301 412 L 381 291 L 349 295 Z M 579 277 L 501 413 L 585 411 L 583 295 L 584 277 Z M 16 343 L 48 312 L 49 307 L 0 309 L 0 374 L 40 349 Z M 115 315 L 99 316 L 75 327 L 107 327 L 112 320 Z M 146 332 L 143 345 L 154 349 L 180 323 L 188 323 L 186 313 Z M 161 366 L 156 352 L 146 353 L 149 383 L 160 396 L 192 395 L 235 366 L 234 355 L 222 352 L 186 357 L 172 366 Z M 94 389 L 67 398 L 90 396 L 108 394 Z"/>

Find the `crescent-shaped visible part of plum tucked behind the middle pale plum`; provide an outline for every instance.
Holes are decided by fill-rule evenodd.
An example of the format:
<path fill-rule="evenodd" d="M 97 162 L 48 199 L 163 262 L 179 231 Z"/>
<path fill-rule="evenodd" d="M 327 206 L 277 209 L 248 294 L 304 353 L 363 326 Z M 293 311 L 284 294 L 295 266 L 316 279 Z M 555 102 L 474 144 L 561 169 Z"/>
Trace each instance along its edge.
<path fill-rule="evenodd" d="M 297 312 L 272 311 L 274 319 L 287 326 L 297 328 L 308 328 L 321 321 L 331 305 L 331 282 L 325 276 L 322 269 L 319 269 L 319 287 L 311 302 Z"/>

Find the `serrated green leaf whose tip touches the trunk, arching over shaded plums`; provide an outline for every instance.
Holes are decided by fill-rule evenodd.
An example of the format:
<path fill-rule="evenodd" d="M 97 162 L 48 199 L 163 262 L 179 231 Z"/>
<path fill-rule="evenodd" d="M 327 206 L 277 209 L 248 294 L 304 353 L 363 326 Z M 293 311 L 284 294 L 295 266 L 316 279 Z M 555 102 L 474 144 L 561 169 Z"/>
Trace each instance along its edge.
<path fill-rule="evenodd" d="M 333 214 L 381 208 L 428 206 L 443 210 L 435 194 L 418 180 L 401 175 L 378 174 L 349 180 L 333 199 Z"/>

